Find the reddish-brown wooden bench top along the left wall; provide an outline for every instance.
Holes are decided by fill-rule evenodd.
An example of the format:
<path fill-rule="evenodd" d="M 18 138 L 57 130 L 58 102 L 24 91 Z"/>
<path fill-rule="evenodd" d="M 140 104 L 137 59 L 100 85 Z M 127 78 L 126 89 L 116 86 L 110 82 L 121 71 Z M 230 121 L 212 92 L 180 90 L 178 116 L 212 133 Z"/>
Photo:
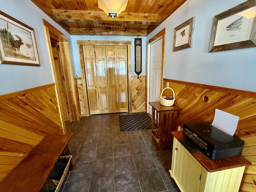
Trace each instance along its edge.
<path fill-rule="evenodd" d="M 72 134 L 45 137 L 0 183 L 0 192 L 40 192 Z"/>

